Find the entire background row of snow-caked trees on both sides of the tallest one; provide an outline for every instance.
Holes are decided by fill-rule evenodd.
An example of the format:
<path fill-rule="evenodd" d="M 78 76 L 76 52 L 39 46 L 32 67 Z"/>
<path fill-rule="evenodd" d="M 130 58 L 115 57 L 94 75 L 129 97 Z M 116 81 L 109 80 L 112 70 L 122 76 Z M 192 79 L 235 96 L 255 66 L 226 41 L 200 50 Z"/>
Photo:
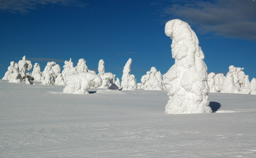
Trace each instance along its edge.
<path fill-rule="evenodd" d="M 99 61 L 98 74 L 96 75 L 96 72 L 88 70 L 86 61 L 83 58 L 78 61 L 75 67 L 71 58 L 69 61 L 65 61 L 62 71 L 59 64 L 48 62 L 44 71 L 41 72 L 39 63 L 35 63 L 33 67 L 31 61 L 26 60 L 26 57 L 23 56 L 18 63 L 11 62 L 2 80 L 9 80 L 9 82 L 13 83 L 22 83 L 24 81 L 26 84 L 33 84 L 33 81 L 37 81 L 42 82 L 43 85 L 66 85 L 65 93 L 77 94 L 88 93 L 87 90 L 91 87 L 114 90 L 135 90 L 136 88 L 156 91 L 168 90 L 164 86 L 162 74 L 155 67 L 151 67 L 151 70 L 141 77 L 141 83 L 137 83 L 135 75 L 130 74 L 131 62 L 132 60 L 129 58 L 124 66 L 120 82 L 118 77 L 115 80 L 116 75 L 110 72 L 105 73 L 103 60 Z M 33 71 L 29 73 L 32 67 Z M 208 74 L 207 83 L 210 92 L 256 94 L 256 79 L 253 78 L 250 82 L 249 76 L 245 75 L 242 70 L 243 68 L 241 67 L 231 65 L 226 76 L 222 73 L 216 75 L 215 73 Z M 87 75 L 81 73 L 87 73 Z M 89 82 L 86 83 L 86 81 Z M 92 83 L 93 81 L 97 82 Z"/>

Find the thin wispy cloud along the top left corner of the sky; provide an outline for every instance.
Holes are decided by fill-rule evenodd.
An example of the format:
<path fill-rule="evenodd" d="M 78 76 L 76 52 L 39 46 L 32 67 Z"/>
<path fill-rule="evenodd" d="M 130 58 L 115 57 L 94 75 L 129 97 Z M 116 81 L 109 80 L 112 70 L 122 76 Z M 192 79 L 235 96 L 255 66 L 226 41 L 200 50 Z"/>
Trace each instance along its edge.
<path fill-rule="evenodd" d="M 0 10 L 25 14 L 42 5 L 48 4 L 75 7 L 85 7 L 88 5 L 78 0 L 0 0 Z"/>

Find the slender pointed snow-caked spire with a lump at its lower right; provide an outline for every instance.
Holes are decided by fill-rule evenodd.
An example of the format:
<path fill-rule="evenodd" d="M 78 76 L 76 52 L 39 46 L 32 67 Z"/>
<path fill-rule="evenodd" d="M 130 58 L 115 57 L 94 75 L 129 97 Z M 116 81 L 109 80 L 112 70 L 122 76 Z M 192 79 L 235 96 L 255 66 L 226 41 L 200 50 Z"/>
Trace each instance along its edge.
<path fill-rule="evenodd" d="M 125 64 L 124 70 L 122 71 L 122 90 L 135 90 L 137 88 L 136 78 L 134 75 L 130 75 L 131 72 L 131 58 Z"/>

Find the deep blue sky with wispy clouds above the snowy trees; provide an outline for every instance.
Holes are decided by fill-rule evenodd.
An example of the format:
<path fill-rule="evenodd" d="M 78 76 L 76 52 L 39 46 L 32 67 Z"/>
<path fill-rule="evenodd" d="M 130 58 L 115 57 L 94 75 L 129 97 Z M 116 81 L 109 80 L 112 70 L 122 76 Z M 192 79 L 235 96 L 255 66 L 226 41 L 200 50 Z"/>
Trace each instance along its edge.
<path fill-rule="evenodd" d="M 250 80 L 256 77 L 253 0 L 1 0 L 0 78 L 24 55 L 42 71 L 47 62 L 62 67 L 70 57 L 74 66 L 84 58 L 97 70 L 102 59 L 105 72 L 121 78 L 132 58 L 137 82 L 152 66 L 165 74 L 174 59 L 164 27 L 176 18 L 197 34 L 209 73 L 226 73 L 234 65 L 244 67 Z"/>

